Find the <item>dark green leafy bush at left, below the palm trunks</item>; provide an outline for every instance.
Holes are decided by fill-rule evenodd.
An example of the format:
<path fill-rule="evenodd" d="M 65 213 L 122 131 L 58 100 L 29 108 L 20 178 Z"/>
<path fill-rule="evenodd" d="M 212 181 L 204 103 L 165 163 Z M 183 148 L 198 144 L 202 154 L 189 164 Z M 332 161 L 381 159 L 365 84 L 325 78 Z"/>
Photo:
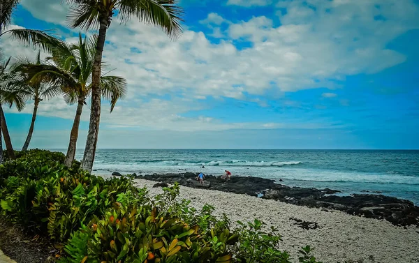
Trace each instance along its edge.
<path fill-rule="evenodd" d="M 1 215 L 31 231 L 47 233 L 54 241 L 64 242 L 93 216 L 105 213 L 120 193 L 127 190 L 138 193 L 131 179 L 104 180 L 81 170 L 68 170 L 59 163 L 60 159 L 61 153 L 36 151 L 1 165 L 0 171 L 17 171 L 13 173 L 16 176 L 4 174 L 0 188 Z M 53 168 L 45 165 L 48 162 Z M 26 176 L 20 173 L 22 167 L 28 171 Z"/>

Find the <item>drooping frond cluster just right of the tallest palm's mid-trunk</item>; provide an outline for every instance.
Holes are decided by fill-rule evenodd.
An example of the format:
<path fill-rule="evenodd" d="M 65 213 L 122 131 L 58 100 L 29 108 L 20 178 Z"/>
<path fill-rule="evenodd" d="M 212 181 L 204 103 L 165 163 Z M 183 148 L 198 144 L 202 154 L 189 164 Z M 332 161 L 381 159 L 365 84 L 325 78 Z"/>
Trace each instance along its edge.
<path fill-rule="evenodd" d="M 110 100 L 110 112 L 113 111 L 117 100 L 126 95 L 126 80 L 124 77 L 104 76 L 101 77 L 102 96 Z"/>

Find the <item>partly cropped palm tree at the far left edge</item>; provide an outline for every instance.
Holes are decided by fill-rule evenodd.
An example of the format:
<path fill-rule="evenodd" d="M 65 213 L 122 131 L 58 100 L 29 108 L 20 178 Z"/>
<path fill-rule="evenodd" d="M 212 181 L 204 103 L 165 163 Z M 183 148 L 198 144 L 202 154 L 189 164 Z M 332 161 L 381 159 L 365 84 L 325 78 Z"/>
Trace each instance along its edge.
<path fill-rule="evenodd" d="M 4 135 L 4 142 L 9 158 L 15 158 L 15 152 L 13 151 L 12 142 L 8 133 L 6 117 L 3 112 L 3 103 L 8 104 L 9 107 L 12 107 L 13 103 L 15 103 L 17 110 L 19 111 L 24 107 L 24 100 L 19 96 L 20 94 L 8 89 L 9 82 L 13 80 L 13 75 L 9 71 L 10 59 L 10 57 L 4 59 L 3 54 L 0 52 L 0 163 L 3 162 L 3 142 L 1 142 L 1 133 Z"/>

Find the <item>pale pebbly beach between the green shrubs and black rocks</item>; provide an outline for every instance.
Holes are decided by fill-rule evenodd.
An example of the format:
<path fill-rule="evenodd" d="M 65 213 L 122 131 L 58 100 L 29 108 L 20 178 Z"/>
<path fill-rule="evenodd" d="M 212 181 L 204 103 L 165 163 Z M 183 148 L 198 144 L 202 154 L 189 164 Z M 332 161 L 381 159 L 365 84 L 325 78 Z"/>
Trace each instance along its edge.
<path fill-rule="evenodd" d="M 154 181 L 135 179 L 139 187 L 146 186 L 151 195 L 161 193 L 152 188 Z M 232 222 L 263 220 L 283 236 L 281 248 L 288 250 L 297 262 L 297 250 L 302 245 L 315 248 L 314 255 L 323 262 L 419 262 L 419 229 L 396 227 L 384 220 L 350 216 L 340 211 L 322 211 L 295 206 L 249 195 L 237 195 L 215 190 L 181 186 L 180 198 L 191 200 L 200 209 L 205 203 L 215 207 L 215 215 L 226 213 Z M 316 230 L 304 230 L 290 218 L 318 223 Z"/>

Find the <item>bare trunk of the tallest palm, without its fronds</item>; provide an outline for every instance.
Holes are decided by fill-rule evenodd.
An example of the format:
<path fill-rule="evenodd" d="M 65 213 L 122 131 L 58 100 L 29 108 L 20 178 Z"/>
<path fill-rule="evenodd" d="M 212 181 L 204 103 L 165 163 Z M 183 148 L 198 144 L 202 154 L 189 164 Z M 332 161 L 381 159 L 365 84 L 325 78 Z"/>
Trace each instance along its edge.
<path fill-rule="evenodd" d="M 108 30 L 108 18 L 101 17 L 96 54 L 94 55 L 93 73 L 91 75 L 91 108 L 89 133 L 87 134 L 86 147 L 82 161 L 82 169 L 91 172 L 96 145 L 98 143 L 99 123 L 101 121 L 101 64 L 102 52 L 105 46 L 106 31 Z"/>

